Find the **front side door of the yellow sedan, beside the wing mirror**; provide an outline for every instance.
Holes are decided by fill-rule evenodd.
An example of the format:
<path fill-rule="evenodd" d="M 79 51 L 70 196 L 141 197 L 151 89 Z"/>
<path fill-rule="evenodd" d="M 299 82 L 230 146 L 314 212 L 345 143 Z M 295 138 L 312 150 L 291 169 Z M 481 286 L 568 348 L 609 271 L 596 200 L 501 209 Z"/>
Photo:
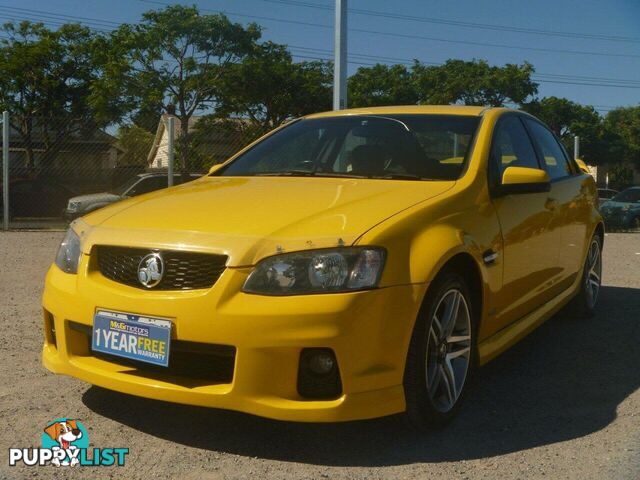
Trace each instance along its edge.
<path fill-rule="evenodd" d="M 498 121 L 491 144 L 489 185 L 495 191 L 509 166 L 542 168 L 519 115 Z M 499 330 L 552 297 L 559 274 L 557 231 L 547 192 L 492 195 L 503 238 L 503 282 L 496 295 L 493 329 Z"/>

